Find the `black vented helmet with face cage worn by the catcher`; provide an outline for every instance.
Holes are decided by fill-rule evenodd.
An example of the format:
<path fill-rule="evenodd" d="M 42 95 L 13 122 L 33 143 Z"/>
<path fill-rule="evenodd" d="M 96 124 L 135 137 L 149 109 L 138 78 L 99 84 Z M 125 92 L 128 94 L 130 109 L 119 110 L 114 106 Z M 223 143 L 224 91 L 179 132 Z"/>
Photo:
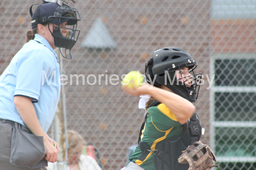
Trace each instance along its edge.
<path fill-rule="evenodd" d="M 159 49 L 154 52 L 153 57 L 146 63 L 146 80 L 153 86 L 162 84 L 170 88 L 175 94 L 195 102 L 199 94 L 202 77 L 201 73 L 194 73 L 196 66 L 197 63 L 191 55 L 181 48 L 168 47 Z M 176 78 L 176 70 L 184 67 L 188 67 L 188 71 L 191 74 L 187 78 L 191 82 L 190 87 L 185 86 L 187 80 L 184 80 L 182 75 L 183 80 Z"/>

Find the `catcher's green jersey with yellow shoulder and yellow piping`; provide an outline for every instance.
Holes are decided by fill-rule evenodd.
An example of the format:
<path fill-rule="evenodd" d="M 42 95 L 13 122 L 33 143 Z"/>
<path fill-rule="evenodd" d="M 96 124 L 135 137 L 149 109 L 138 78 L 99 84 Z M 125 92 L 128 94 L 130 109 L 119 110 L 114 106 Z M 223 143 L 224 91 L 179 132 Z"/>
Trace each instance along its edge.
<path fill-rule="evenodd" d="M 148 108 L 147 120 L 142 130 L 141 141 L 150 146 L 154 151 L 156 143 L 164 139 L 172 138 L 179 135 L 182 131 L 182 125 L 165 104 L 159 104 L 155 107 Z M 150 152 L 144 160 L 139 160 L 142 151 L 137 147 L 131 154 L 130 161 L 147 170 L 155 170 L 154 154 Z"/>

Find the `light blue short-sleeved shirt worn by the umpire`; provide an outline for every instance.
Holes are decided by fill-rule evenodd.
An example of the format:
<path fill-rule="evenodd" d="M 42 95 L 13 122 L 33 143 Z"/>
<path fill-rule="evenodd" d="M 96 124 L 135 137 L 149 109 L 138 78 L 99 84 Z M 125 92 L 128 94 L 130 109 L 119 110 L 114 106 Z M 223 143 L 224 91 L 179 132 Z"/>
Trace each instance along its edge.
<path fill-rule="evenodd" d="M 0 76 L 0 118 L 25 125 L 14 105 L 14 96 L 30 97 L 40 125 L 47 132 L 60 97 L 59 77 L 55 51 L 44 37 L 36 34 Z"/>

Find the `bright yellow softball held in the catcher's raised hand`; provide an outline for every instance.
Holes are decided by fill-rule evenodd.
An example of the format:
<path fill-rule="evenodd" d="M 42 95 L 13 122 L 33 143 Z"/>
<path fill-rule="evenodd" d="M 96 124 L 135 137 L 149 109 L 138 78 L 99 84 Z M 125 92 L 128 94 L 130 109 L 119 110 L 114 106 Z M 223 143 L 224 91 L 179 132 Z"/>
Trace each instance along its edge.
<path fill-rule="evenodd" d="M 134 89 L 142 86 L 143 83 L 143 75 L 139 73 L 139 71 L 131 71 L 123 78 L 122 86 L 127 86 L 130 89 Z"/>

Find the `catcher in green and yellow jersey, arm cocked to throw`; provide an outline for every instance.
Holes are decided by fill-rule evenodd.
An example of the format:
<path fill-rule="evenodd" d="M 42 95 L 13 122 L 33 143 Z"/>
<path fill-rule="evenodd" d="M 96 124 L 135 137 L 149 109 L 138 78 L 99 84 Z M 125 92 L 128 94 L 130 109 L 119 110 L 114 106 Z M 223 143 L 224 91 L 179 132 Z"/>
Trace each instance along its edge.
<path fill-rule="evenodd" d="M 148 101 L 144 106 L 146 115 L 138 147 L 122 170 L 187 170 L 189 165 L 193 165 L 187 151 L 180 157 L 180 163 L 178 158 L 189 145 L 201 138 L 201 124 L 192 104 L 197 100 L 201 82 L 201 74 L 194 73 L 196 66 L 195 60 L 183 49 L 159 49 L 145 66 L 149 84 L 134 89 L 123 86 L 126 94 L 148 94 L 151 97 L 144 97 Z M 190 148 L 192 147 L 188 151 Z M 208 158 L 212 155 L 210 152 Z M 204 162 L 207 155 L 200 156 L 200 161 Z M 202 165 L 211 168 L 213 159 L 216 158 L 212 156 L 211 159 L 211 165 Z M 197 164 L 200 163 L 196 162 Z"/>

